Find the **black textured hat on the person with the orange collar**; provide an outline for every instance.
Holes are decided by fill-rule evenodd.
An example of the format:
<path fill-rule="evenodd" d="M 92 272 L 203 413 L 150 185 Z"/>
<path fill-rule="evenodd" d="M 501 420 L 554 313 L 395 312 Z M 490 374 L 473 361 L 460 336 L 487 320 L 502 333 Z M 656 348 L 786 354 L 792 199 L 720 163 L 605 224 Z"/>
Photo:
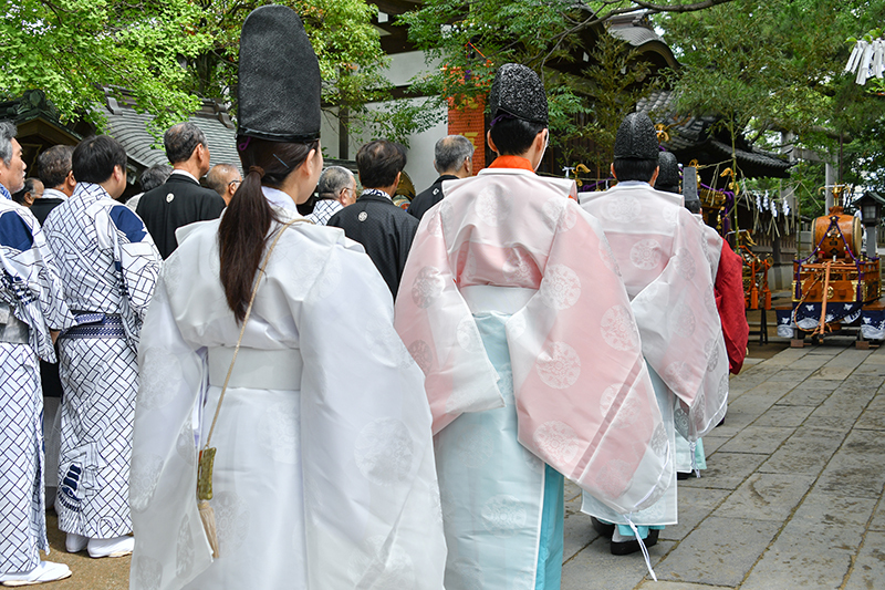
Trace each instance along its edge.
<path fill-rule="evenodd" d="M 532 70 L 506 63 L 494 73 L 489 93 L 492 120 L 510 115 L 530 123 L 548 124 L 544 84 Z"/>

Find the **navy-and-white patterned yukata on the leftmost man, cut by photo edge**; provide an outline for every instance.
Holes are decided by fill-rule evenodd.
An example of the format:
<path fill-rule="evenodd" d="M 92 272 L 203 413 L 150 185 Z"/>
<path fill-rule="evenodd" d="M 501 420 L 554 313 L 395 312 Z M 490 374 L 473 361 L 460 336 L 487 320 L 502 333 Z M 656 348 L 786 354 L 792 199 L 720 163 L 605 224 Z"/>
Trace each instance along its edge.
<path fill-rule="evenodd" d="M 40 224 L 0 185 L 0 573 L 31 571 L 49 551 L 40 363 L 50 330 L 73 323 Z"/>

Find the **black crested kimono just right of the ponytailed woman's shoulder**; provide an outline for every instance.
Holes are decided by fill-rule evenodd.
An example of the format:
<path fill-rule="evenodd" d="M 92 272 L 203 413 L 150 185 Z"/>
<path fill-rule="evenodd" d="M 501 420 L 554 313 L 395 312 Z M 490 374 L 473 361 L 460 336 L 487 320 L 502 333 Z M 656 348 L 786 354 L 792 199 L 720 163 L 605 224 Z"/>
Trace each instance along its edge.
<path fill-rule="evenodd" d="M 381 190 L 368 189 L 356 203 L 333 215 L 326 225 L 344 229 L 345 236 L 363 245 L 396 299 L 418 220 Z"/>

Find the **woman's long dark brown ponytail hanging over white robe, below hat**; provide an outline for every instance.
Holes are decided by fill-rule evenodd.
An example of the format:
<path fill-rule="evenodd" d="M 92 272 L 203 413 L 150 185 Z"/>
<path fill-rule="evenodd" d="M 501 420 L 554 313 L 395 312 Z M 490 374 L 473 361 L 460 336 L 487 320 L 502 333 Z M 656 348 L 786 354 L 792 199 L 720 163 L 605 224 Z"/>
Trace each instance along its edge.
<path fill-rule="evenodd" d="M 280 143 L 237 136 L 242 163 L 242 184 L 230 199 L 218 227 L 221 256 L 221 284 L 228 307 L 237 322 L 246 317 L 252 283 L 261 265 L 271 224 L 279 218 L 261 192 L 261 186 L 279 188 L 308 158 L 319 142 Z"/>

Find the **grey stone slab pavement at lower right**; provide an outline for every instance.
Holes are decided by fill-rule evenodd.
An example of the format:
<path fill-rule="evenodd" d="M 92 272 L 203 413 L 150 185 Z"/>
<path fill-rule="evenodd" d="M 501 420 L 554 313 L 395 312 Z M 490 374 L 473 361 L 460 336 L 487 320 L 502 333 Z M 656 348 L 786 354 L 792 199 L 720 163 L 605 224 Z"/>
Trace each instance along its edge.
<path fill-rule="evenodd" d="M 748 362 L 752 362 L 748 359 Z M 562 590 L 885 589 L 885 348 L 787 349 L 731 377 L 679 524 L 615 557 L 566 485 Z"/>

